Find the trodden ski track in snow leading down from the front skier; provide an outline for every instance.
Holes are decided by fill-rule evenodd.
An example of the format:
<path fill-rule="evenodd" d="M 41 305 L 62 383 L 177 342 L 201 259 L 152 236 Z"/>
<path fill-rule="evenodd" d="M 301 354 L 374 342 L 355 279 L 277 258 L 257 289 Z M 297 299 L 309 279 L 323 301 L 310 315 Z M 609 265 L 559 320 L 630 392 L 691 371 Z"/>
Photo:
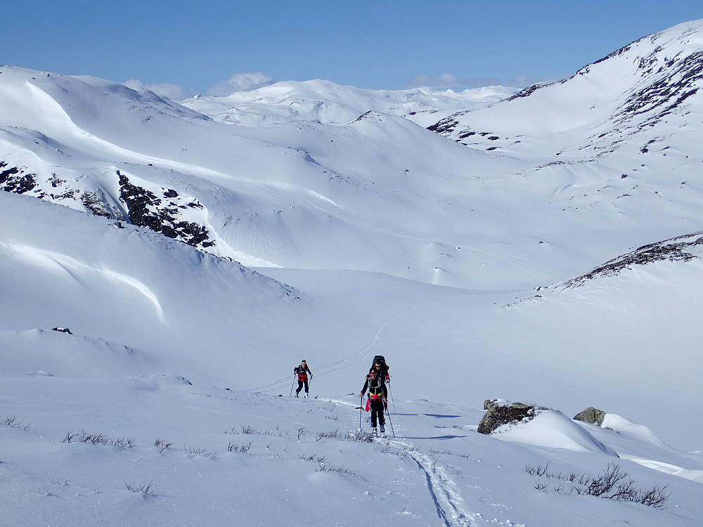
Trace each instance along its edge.
<path fill-rule="evenodd" d="M 463 509 L 460 502 L 464 498 L 453 488 L 454 482 L 449 479 L 437 463 L 430 456 L 419 453 L 413 449 L 412 445 L 404 441 L 387 441 L 387 444 L 403 448 L 418 464 L 418 467 L 423 471 L 427 478 L 427 487 L 432 495 L 435 507 L 437 507 L 437 515 L 444 521 L 446 527 L 470 527 L 475 525 L 471 516 L 475 516 L 477 520 L 480 515 L 472 515 Z"/>

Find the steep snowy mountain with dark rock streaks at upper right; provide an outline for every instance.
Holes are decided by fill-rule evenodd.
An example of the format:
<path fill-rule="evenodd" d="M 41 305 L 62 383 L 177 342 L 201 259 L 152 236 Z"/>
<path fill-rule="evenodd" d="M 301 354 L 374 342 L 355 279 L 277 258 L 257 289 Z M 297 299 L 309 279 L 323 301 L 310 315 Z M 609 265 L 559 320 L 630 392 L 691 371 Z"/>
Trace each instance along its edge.
<path fill-rule="evenodd" d="M 530 86 L 491 108 L 456 112 L 430 128 L 474 148 L 516 155 L 526 137 L 546 143 L 544 136 L 553 143 L 553 155 L 582 158 L 608 155 L 643 133 L 637 146 L 646 152 L 647 145 L 660 141 L 651 130 L 657 124 L 699 124 L 692 108 L 699 107 L 702 86 L 703 22 L 698 20 L 643 37 L 568 79 Z M 510 122 L 503 119 L 508 113 Z M 496 120 L 504 126 L 491 127 Z M 494 138 L 487 142 L 486 136 Z"/>

